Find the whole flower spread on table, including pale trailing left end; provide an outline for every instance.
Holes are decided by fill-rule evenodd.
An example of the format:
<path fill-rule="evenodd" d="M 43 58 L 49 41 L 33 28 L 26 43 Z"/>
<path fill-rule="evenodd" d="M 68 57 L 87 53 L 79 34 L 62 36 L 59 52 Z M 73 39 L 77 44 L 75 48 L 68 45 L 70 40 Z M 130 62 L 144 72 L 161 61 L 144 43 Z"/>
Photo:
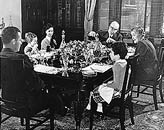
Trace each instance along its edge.
<path fill-rule="evenodd" d="M 64 43 L 62 47 L 52 52 L 40 51 L 37 55 L 32 55 L 30 59 L 34 64 L 79 70 L 93 62 L 102 62 L 104 57 L 108 59 L 109 48 L 102 45 L 100 41 L 74 40 Z"/>

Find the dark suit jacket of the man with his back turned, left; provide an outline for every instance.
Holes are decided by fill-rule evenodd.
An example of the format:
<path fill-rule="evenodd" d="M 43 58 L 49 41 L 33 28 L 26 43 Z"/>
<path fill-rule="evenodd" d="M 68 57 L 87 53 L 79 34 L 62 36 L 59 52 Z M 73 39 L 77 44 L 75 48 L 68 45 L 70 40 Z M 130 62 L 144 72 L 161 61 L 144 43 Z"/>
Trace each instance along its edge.
<path fill-rule="evenodd" d="M 10 48 L 3 48 L 0 52 L 0 57 L 24 60 L 23 80 L 25 81 L 25 85 L 22 85 L 21 87 L 23 88 L 21 89 L 15 86 L 14 90 L 13 88 L 9 89 L 9 93 L 11 93 L 11 91 L 14 92 L 14 94 L 11 94 L 13 97 L 10 95 L 10 99 L 17 99 L 17 102 L 20 103 L 27 102 L 29 109 L 33 112 L 47 107 L 48 97 L 44 89 L 45 84 L 34 71 L 33 64 L 28 56 L 13 52 Z"/>

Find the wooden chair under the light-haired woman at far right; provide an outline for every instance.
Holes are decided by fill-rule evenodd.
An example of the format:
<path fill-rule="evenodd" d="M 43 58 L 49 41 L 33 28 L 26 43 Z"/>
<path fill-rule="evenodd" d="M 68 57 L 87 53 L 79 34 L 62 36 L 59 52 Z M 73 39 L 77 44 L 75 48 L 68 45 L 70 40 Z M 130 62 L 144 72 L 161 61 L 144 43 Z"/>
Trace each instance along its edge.
<path fill-rule="evenodd" d="M 154 77 L 154 80 L 145 81 L 144 83 L 139 84 L 137 88 L 137 97 L 139 97 L 140 93 L 153 96 L 155 110 L 158 110 L 157 94 L 156 94 L 157 90 L 159 90 L 160 92 L 161 102 L 164 102 L 163 90 L 162 90 L 162 77 L 164 75 L 164 47 L 160 46 L 158 50 L 159 51 L 157 51 L 157 57 L 158 57 L 159 71 L 157 76 Z M 144 89 L 141 91 L 140 91 L 140 86 L 144 87 Z M 146 91 L 149 88 L 153 90 L 152 93 Z"/>

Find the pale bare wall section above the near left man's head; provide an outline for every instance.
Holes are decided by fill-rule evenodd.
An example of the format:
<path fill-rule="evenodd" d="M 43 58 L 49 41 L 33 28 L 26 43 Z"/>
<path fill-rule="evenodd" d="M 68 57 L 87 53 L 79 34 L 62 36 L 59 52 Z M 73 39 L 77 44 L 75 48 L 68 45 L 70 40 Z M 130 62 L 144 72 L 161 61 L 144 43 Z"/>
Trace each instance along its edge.
<path fill-rule="evenodd" d="M 4 18 L 5 27 L 13 25 L 22 30 L 21 0 L 0 0 L 0 24 Z"/>

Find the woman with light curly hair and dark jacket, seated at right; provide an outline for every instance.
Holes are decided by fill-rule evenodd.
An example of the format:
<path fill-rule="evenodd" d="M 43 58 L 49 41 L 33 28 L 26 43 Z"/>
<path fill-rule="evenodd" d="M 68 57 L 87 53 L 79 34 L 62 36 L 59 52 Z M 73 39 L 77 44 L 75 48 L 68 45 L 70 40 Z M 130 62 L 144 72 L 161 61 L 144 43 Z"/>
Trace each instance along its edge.
<path fill-rule="evenodd" d="M 135 83 L 140 84 L 154 80 L 158 72 L 158 59 L 154 45 L 145 39 L 142 27 L 134 27 L 131 35 L 134 43 L 137 44 L 135 54 L 139 54 Z"/>

